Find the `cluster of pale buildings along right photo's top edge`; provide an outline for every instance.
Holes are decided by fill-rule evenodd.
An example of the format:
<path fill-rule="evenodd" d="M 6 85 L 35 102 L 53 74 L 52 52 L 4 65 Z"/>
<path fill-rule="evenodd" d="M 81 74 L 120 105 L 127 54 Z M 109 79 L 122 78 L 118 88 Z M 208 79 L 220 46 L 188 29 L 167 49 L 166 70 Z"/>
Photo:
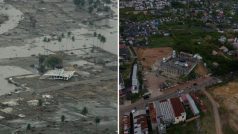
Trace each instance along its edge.
<path fill-rule="evenodd" d="M 120 1 L 120 8 L 134 8 L 137 11 L 161 10 L 170 6 L 168 0 L 129 0 Z"/>

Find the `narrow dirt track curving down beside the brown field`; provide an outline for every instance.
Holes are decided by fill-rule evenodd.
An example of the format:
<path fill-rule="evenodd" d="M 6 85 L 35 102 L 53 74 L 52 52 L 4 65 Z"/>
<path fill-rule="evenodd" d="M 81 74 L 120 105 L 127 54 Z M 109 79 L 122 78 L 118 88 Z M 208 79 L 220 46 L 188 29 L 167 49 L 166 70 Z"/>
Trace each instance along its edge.
<path fill-rule="evenodd" d="M 222 125 L 221 125 L 221 119 L 220 119 L 217 103 L 206 90 L 202 90 L 202 91 L 207 96 L 209 101 L 212 103 L 213 115 L 214 115 L 214 119 L 215 119 L 216 134 L 222 134 Z"/>

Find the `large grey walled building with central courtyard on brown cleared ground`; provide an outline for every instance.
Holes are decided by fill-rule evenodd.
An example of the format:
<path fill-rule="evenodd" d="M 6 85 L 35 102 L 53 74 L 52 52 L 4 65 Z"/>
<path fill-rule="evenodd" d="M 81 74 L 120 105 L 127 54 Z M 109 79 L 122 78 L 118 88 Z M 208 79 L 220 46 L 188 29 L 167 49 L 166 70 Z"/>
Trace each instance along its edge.
<path fill-rule="evenodd" d="M 202 60 L 199 54 L 192 55 L 185 52 L 176 54 L 176 51 L 173 51 L 171 56 L 163 58 L 158 71 L 167 77 L 186 76 L 196 67 L 199 60 Z"/>

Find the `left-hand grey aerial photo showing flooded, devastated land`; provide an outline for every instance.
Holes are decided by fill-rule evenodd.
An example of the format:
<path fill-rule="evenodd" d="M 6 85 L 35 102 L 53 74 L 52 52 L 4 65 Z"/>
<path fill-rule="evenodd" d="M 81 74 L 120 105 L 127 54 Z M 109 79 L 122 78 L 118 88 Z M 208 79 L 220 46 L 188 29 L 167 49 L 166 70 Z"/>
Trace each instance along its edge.
<path fill-rule="evenodd" d="M 117 0 L 0 0 L 0 134 L 112 134 Z"/>

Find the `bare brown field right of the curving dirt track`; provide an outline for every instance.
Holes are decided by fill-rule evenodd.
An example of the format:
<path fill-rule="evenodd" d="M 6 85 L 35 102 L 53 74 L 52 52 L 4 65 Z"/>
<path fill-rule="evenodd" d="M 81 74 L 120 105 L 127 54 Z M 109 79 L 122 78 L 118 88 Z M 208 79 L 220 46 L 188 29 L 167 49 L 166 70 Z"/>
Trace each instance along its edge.
<path fill-rule="evenodd" d="M 219 103 L 219 112 L 223 123 L 224 134 L 235 134 L 238 132 L 238 81 L 232 81 L 211 90 L 215 100 Z"/>

